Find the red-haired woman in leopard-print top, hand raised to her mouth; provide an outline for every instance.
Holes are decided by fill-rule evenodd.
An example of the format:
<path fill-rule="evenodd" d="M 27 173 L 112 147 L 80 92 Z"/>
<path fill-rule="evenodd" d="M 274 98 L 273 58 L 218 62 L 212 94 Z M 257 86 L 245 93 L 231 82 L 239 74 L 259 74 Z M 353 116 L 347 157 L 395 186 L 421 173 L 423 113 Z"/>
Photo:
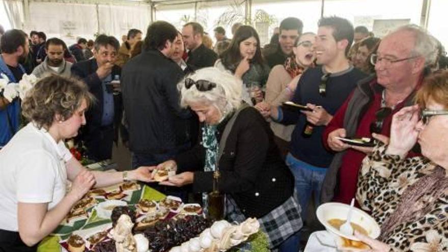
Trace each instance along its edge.
<path fill-rule="evenodd" d="M 388 145 L 379 143 L 362 161 L 356 199 L 381 235 L 357 236 L 373 251 L 448 250 L 447 97 L 448 71 L 429 76 L 416 93 L 417 105 L 393 116 Z M 416 143 L 423 156 L 406 158 Z"/>

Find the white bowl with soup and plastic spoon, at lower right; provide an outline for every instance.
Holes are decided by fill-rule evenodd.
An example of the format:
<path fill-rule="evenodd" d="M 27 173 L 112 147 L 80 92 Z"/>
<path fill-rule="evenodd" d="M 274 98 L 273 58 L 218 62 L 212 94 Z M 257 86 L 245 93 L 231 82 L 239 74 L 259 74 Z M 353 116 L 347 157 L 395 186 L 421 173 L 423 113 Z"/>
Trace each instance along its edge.
<path fill-rule="evenodd" d="M 328 220 L 330 219 L 347 219 L 347 214 L 350 209 L 350 205 L 342 204 L 342 203 L 325 203 L 320 205 L 317 208 L 316 215 L 319 221 L 322 223 L 322 225 L 325 226 L 328 232 L 331 232 L 333 234 L 345 237 L 350 240 L 359 241 L 358 238 L 356 238 L 353 235 L 346 235 L 339 231 L 338 229 L 335 229 L 333 226 L 328 223 Z M 373 238 L 376 239 L 380 235 L 380 226 L 378 223 L 366 212 L 353 207 L 352 210 L 352 218 L 350 222 L 353 222 L 359 226 L 361 226 L 363 229 L 367 231 L 367 234 Z"/>

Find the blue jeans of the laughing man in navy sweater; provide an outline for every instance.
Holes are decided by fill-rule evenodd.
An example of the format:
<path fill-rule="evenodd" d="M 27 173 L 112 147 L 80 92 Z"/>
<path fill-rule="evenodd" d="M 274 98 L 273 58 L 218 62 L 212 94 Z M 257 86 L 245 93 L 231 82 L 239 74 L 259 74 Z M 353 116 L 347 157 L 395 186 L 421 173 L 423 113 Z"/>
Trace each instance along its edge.
<path fill-rule="evenodd" d="M 302 208 L 302 220 L 306 220 L 306 210 L 314 191 L 314 202 L 320 205 L 322 183 L 327 172 L 326 168 L 313 166 L 295 158 L 291 153 L 286 156 L 286 164 L 289 166 L 295 179 L 298 202 Z"/>

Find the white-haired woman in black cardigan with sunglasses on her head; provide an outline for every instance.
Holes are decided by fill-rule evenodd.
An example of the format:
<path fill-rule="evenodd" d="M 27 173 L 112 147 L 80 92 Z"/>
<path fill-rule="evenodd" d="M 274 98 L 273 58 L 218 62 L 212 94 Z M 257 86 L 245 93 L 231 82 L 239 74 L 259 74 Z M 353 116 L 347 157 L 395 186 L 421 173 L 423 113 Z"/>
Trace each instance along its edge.
<path fill-rule="evenodd" d="M 157 166 L 177 169 L 176 176 L 161 184 L 192 184 L 195 192 L 210 192 L 218 165 L 218 188 L 226 193 L 226 219 L 257 217 L 271 249 L 295 251 L 295 234 L 302 220 L 293 196 L 294 180 L 269 125 L 257 109 L 241 105 L 241 88 L 241 80 L 216 68 L 201 69 L 179 83 L 181 105 L 195 111 L 203 123 L 202 141 Z"/>

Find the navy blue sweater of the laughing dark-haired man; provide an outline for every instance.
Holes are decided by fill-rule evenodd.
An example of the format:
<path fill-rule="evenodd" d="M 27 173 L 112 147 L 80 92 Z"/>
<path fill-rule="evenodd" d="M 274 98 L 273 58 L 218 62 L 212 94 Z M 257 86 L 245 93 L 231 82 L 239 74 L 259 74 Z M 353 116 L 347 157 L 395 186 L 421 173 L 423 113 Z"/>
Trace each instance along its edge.
<path fill-rule="evenodd" d="M 343 72 L 332 73 L 326 82 L 326 96 L 323 97 L 319 94 L 322 75 L 324 75 L 324 72 L 321 66 L 306 70 L 300 77 L 291 101 L 303 105 L 306 103 L 320 105 L 330 115 L 334 115 L 353 91 L 358 80 L 367 76 L 353 67 Z M 282 110 L 281 113 L 283 114 L 283 118 L 280 118 L 281 123 L 296 125 L 291 136 L 291 154 L 311 165 L 328 167 L 333 154 L 328 152 L 322 144 L 321 137 L 325 126 L 315 126 L 311 137 L 304 138 L 301 134 L 306 122 L 305 115 L 282 108 L 279 109 Z"/>

